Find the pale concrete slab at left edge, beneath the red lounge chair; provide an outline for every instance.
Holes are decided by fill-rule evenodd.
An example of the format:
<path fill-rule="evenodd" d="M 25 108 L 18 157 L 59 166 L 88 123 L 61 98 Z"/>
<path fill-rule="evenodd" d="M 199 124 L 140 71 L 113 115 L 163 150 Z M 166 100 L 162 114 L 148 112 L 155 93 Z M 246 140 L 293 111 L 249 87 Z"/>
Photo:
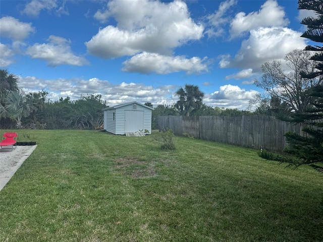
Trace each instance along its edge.
<path fill-rule="evenodd" d="M 37 145 L 17 146 L 13 151 L 0 148 L 0 191 L 36 147 Z"/>

